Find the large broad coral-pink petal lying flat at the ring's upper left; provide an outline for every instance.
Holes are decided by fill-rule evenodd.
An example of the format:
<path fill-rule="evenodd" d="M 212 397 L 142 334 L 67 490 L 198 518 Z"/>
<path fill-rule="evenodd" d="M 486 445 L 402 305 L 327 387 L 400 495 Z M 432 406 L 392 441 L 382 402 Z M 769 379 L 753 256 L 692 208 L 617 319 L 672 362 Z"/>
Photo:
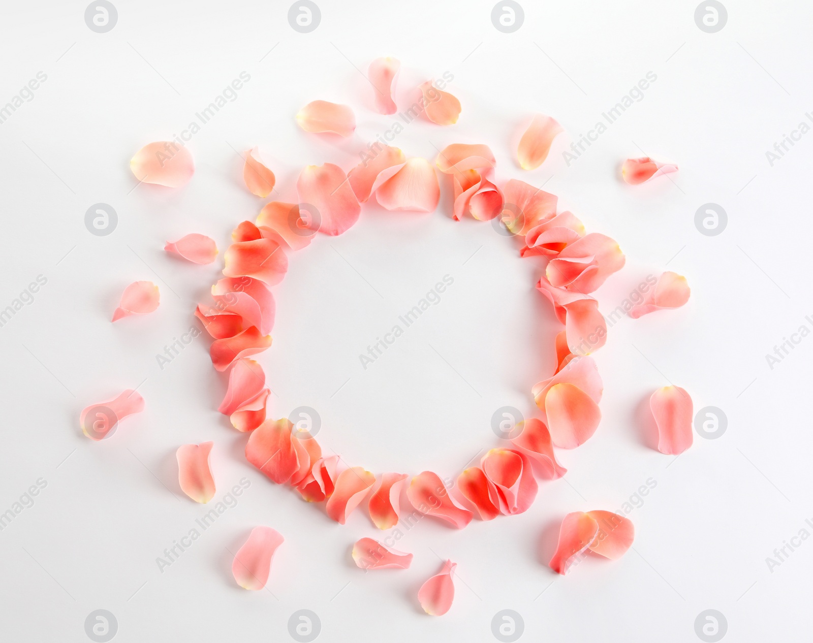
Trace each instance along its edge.
<path fill-rule="evenodd" d="M 297 192 L 300 208 L 311 212 L 306 223 L 313 231 L 335 237 L 359 220 L 359 200 L 345 172 L 333 163 L 305 167 L 297 180 Z"/>

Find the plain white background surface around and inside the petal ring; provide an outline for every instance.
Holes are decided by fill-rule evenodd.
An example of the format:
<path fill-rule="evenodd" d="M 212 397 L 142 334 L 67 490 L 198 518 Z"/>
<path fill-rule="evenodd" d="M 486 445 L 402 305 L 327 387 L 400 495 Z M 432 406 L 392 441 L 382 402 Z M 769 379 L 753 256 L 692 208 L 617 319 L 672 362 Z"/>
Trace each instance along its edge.
<path fill-rule="evenodd" d="M 0 308 L 47 278 L 0 328 L 0 511 L 47 481 L 0 532 L 5 639 L 87 641 L 85 617 L 98 608 L 118 620 L 115 641 L 285 641 L 303 608 L 320 616 L 319 641 L 493 641 L 491 619 L 506 608 L 533 641 L 697 641 L 694 619 L 706 609 L 725 615 L 730 641 L 800 640 L 810 629 L 813 544 L 773 571 L 766 558 L 813 531 L 813 340 L 773 370 L 765 354 L 811 326 L 813 134 L 773 167 L 765 152 L 813 107 L 813 7 L 727 2 L 728 24 L 708 34 L 694 23 L 695 2 L 542 5 L 526 2 L 511 34 L 491 24 L 491 2 L 320 0 L 309 34 L 290 28 L 278 2 L 116 2 L 118 24 L 105 34 L 85 25 L 83 2 L 4 8 L 0 104 L 47 75 L 0 125 Z M 380 55 L 402 61 L 400 107 L 443 72 L 463 104 L 452 127 L 407 127 L 394 141 L 407 155 L 486 143 L 499 183 L 545 184 L 560 209 L 619 241 L 627 265 L 598 291 L 602 311 L 665 269 L 687 276 L 692 297 L 611 328 L 596 354 L 602 424 L 578 450 L 558 452 L 567 476 L 541 484 L 527 513 L 463 531 L 425 519 L 398 544 L 415 554 L 410 570 L 365 575 L 350 559 L 357 538 L 377 535 L 363 511 L 334 524 L 246 463 L 246 436 L 216 411 L 225 380 L 204 336 L 163 370 L 155 354 L 198 325 L 193 308 L 222 267 L 177 261 L 164 242 L 202 232 L 222 258 L 231 229 L 264 202 L 241 181 L 237 153 L 252 146 L 272 159 L 274 196 L 289 202 L 303 165 L 358 163 L 396 120 L 369 108 L 361 72 Z M 180 133 L 244 71 L 251 80 L 237 100 L 189 142 L 189 185 L 137 186 L 136 150 Z M 562 151 L 650 71 L 645 98 L 567 167 Z M 354 137 L 303 133 L 293 116 L 314 99 L 353 106 Z M 524 172 L 515 143 L 536 111 L 567 133 Z M 621 161 L 645 152 L 680 172 L 625 185 Z M 96 202 L 119 215 L 109 237 L 85 229 Z M 728 212 L 718 237 L 694 226 L 706 202 Z M 496 444 L 493 411 L 533 414 L 530 389 L 552 372 L 560 327 L 533 288 L 541 264 L 520 260 L 489 224 L 457 224 L 449 212 L 446 185 L 433 215 L 367 204 L 350 232 L 295 254 L 274 289 L 274 345 L 259 358 L 272 415 L 313 406 L 324 449 L 348 464 L 457 476 Z M 446 274 L 454 285 L 441 302 L 364 371 L 359 353 Z M 111 324 L 133 280 L 158 284 L 161 306 Z M 695 409 L 728 416 L 722 437 L 695 436 L 676 460 L 652 449 L 646 423 L 650 393 L 670 382 Z M 141 415 L 110 440 L 82 436 L 84 406 L 139 384 Z M 244 476 L 250 488 L 162 573 L 155 559 L 206 511 L 180 491 L 175 450 L 207 440 L 216 499 Z M 655 488 L 628 515 L 633 550 L 615 563 L 587 558 L 565 577 L 550 571 L 567 512 L 618 510 L 649 479 Z M 229 550 L 257 524 L 285 544 L 268 591 L 249 593 L 234 583 Z M 454 606 L 430 618 L 416 592 L 447 557 L 459 564 Z"/>

